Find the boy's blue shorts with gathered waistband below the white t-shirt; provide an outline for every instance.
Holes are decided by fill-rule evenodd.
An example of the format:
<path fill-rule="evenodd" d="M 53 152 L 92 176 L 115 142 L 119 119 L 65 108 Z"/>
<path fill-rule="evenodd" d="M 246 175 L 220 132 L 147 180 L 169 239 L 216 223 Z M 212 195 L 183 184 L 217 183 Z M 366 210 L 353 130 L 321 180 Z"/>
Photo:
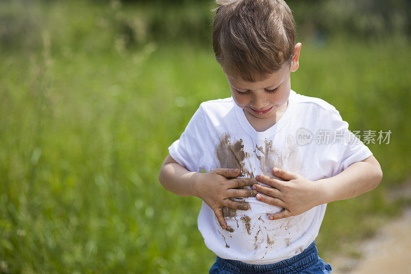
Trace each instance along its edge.
<path fill-rule="evenodd" d="M 300 254 L 281 262 L 264 265 L 246 264 L 235 260 L 226 260 L 217 256 L 210 268 L 210 274 L 232 273 L 331 273 L 331 266 L 318 257 L 315 241 Z"/>

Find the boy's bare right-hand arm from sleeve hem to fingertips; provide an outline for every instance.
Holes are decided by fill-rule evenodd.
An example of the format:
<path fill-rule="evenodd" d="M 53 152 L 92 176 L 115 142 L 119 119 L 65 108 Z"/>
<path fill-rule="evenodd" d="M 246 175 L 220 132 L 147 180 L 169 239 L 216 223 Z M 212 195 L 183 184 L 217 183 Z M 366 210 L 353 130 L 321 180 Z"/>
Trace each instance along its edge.
<path fill-rule="evenodd" d="M 261 202 L 284 208 L 271 214 L 270 220 L 295 216 L 315 206 L 355 197 L 375 189 L 382 179 L 380 163 L 374 156 L 355 162 L 340 174 L 316 181 L 288 171 L 276 170 L 273 174 L 278 180 L 258 175 L 257 181 L 271 187 L 254 185 L 259 193 L 256 198 Z"/>

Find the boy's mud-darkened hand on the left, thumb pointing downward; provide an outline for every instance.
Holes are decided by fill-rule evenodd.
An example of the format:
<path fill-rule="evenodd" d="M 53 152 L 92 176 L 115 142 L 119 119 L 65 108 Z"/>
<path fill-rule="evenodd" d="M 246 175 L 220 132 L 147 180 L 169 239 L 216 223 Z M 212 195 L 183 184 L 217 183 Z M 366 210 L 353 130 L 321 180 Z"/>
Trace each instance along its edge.
<path fill-rule="evenodd" d="M 207 173 L 201 173 L 195 181 L 197 197 L 214 211 L 218 223 L 223 229 L 227 228 L 222 214 L 223 207 L 248 210 L 250 205 L 244 202 L 236 202 L 233 197 L 255 197 L 257 191 L 251 189 L 236 189 L 257 184 L 254 178 L 236 178 L 240 170 L 218 168 Z"/>

